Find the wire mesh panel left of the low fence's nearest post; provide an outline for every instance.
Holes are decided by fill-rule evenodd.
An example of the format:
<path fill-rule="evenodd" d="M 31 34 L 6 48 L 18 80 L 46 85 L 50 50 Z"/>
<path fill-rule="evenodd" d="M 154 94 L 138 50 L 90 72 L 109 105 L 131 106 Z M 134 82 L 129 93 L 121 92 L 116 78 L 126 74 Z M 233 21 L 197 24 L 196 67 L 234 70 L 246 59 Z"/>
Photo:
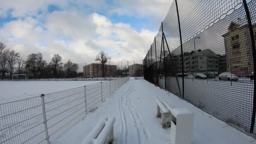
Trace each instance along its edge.
<path fill-rule="evenodd" d="M 0 143 L 46 143 L 40 97 L 0 105 Z"/>

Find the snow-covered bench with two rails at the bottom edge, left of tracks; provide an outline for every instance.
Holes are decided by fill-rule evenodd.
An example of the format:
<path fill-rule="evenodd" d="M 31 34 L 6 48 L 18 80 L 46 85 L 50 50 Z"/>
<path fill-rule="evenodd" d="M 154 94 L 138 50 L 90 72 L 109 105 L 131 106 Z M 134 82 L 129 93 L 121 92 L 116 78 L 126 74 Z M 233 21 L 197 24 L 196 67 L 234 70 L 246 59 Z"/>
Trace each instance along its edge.
<path fill-rule="evenodd" d="M 103 118 L 86 137 L 82 144 L 103 144 L 114 139 L 115 118 Z M 108 139 L 107 139 L 108 138 Z"/>

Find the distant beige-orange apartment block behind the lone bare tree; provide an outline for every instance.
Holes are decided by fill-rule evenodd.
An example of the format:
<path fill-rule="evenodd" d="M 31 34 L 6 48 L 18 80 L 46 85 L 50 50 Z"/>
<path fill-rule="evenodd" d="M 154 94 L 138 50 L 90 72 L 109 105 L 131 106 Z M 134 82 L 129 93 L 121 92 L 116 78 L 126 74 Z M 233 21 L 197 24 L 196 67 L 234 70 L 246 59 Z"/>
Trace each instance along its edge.
<path fill-rule="evenodd" d="M 105 76 L 117 75 L 117 65 L 104 64 Z M 103 68 L 101 64 L 91 63 L 84 66 L 84 75 L 86 77 L 102 77 Z"/>

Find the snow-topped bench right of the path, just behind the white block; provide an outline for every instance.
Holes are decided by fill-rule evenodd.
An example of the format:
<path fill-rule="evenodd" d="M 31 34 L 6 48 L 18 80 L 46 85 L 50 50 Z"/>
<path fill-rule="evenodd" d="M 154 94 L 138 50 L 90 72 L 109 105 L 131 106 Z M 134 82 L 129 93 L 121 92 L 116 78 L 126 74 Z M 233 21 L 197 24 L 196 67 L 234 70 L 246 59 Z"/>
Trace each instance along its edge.
<path fill-rule="evenodd" d="M 162 116 L 162 128 L 166 128 L 167 127 L 166 119 L 170 115 L 170 111 L 167 109 L 167 107 L 164 105 L 164 103 L 161 100 L 156 100 L 156 104 L 157 104 L 156 117 Z"/>

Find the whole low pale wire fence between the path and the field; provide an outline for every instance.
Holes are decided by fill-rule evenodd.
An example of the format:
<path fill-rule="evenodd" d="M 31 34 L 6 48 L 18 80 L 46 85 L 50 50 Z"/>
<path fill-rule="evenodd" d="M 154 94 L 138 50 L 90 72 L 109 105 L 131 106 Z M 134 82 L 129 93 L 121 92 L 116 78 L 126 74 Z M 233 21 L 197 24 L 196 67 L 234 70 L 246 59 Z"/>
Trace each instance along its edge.
<path fill-rule="evenodd" d="M 104 81 L 0 104 L 0 143 L 49 143 L 129 81 Z"/>

